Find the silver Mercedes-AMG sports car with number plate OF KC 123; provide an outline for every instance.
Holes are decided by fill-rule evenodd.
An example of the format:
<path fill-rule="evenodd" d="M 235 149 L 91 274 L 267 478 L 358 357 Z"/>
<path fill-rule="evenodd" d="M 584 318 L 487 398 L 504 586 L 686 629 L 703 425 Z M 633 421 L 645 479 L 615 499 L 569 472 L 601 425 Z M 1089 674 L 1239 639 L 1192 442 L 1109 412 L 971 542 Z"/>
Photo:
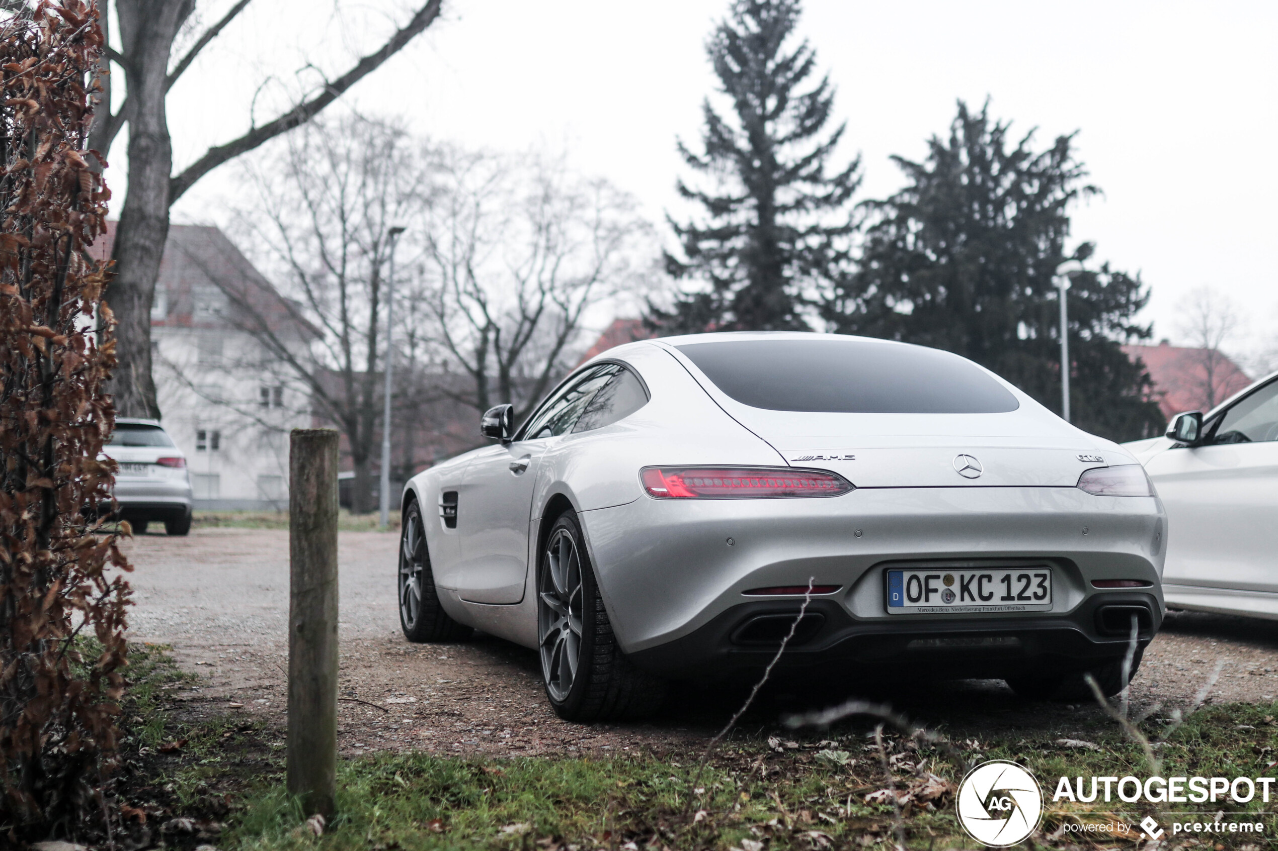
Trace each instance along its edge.
<path fill-rule="evenodd" d="M 749 675 L 791 629 L 781 666 L 797 676 L 996 677 L 1072 699 L 1090 672 L 1113 694 L 1132 633 L 1130 671 L 1162 621 L 1166 515 L 1144 468 L 948 352 L 642 341 L 518 427 L 500 406 L 481 430 L 493 445 L 404 490 L 404 634 L 537 648 L 565 718 Z"/>

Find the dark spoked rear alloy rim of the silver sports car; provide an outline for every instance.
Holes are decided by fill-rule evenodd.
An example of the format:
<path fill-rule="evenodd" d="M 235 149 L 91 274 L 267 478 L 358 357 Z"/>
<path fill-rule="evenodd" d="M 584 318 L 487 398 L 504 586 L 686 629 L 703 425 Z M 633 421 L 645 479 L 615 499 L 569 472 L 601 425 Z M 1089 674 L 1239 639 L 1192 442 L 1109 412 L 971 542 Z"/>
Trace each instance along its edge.
<path fill-rule="evenodd" d="M 538 583 L 537 630 L 542 675 L 551 698 L 562 702 L 573 690 L 581 656 L 581 556 L 566 528 L 557 528 L 546 546 Z"/>

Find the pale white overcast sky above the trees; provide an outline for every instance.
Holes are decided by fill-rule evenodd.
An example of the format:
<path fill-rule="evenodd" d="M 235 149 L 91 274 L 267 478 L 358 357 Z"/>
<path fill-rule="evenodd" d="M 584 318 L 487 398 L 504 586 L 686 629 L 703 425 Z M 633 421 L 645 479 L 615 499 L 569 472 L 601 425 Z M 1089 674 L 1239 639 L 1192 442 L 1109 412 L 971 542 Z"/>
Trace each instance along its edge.
<path fill-rule="evenodd" d="M 216 19 L 225 5 L 204 3 L 201 14 Z M 296 77 L 305 61 L 339 70 L 406 18 L 406 0 L 321 18 L 318 5 L 256 0 L 188 71 L 169 106 L 179 166 L 242 131 L 268 75 L 258 121 L 305 79 Z M 714 83 L 703 43 L 726 8 L 445 0 L 445 18 L 350 102 L 438 138 L 565 149 L 659 221 L 675 203 L 675 138 L 697 139 Z M 1039 128 L 1042 145 L 1080 131 L 1079 153 L 1104 195 L 1075 212 L 1074 236 L 1141 273 L 1159 337 L 1176 337 L 1178 299 L 1210 285 L 1246 307 L 1247 348 L 1274 343 L 1278 4 L 808 0 L 800 32 L 838 87 L 842 156 L 863 156 L 863 198 L 900 185 L 888 156 L 921 157 L 956 98 L 988 96 L 1013 129 Z M 123 145 L 112 153 L 123 163 Z M 235 177 L 234 167 L 206 177 L 175 221 L 220 221 Z"/>

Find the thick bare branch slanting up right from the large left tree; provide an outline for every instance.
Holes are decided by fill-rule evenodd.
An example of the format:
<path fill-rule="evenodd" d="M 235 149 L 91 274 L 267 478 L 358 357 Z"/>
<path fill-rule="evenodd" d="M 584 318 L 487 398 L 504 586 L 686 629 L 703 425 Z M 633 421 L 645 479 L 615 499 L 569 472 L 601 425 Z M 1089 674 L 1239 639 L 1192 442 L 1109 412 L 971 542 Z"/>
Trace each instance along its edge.
<path fill-rule="evenodd" d="M 293 128 L 309 121 L 321 110 L 336 101 L 343 92 L 374 71 L 382 63 L 397 54 L 404 45 L 413 40 L 414 36 L 429 27 L 440 14 L 441 1 L 442 0 L 428 0 L 426 5 L 418 9 L 417 14 L 413 15 L 412 20 L 409 20 L 404 28 L 391 36 L 390 41 L 387 41 L 381 50 L 360 59 L 349 71 L 331 83 L 327 83 L 323 87 L 323 91 L 316 97 L 303 101 L 273 121 L 263 124 L 259 128 L 253 128 L 238 139 L 227 142 L 224 145 L 215 145 L 210 148 L 199 159 L 188 166 L 181 174 L 170 179 L 169 204 L 171 205 L 175 200 L 181 198 L 181 195 L 190 189 L 197 180 L 227 159 L 252 151 L 281 133 L 286 133 Z"/>

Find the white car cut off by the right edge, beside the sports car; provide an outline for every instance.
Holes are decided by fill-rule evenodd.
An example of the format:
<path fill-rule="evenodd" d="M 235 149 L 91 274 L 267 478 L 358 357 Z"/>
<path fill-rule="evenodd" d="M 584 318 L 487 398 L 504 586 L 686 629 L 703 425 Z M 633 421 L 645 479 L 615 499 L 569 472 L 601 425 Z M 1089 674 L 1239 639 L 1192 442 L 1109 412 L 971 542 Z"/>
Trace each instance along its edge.
<path fill-rule="evenodd" d="M 1278 373 L 1123 445 L 1167 505 L 1167 605 L 1278 618 Z"/>

